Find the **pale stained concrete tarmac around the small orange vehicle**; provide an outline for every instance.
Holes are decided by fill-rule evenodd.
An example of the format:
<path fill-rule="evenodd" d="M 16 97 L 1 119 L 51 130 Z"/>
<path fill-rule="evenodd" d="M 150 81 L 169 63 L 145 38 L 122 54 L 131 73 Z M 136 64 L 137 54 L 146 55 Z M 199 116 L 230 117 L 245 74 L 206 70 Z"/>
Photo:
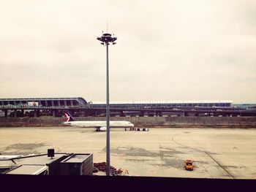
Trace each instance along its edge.
<path fill-rule="evenodd" d="M 106 132 L 94 128 L 0 128 L 1 155 L 93 153 L 105 161 Z M 149 128 L 110 129 L 110 165 L 131 176 L 256 179 L 256 129 Z M 184 161 L 194 161 L 194 170 Z"/>

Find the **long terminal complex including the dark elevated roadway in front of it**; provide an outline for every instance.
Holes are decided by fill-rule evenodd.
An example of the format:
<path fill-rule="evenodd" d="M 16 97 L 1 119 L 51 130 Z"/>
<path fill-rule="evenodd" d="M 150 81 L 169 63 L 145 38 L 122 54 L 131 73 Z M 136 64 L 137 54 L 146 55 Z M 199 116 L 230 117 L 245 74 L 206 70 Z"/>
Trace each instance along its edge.
<path fill-rule="evenodd" d="M 241 112 L 248 110 L 253 112 Z M 0 99 L 1 117 L 61 117 L 64 112 L 74 116 L 105 116 L 106 103 L 86 101 L 83 97 Z M 178 110 L 178 111 L 177 111 Z M 218 110 L 218 112 L 216 112 Z M 225 112 L 224 112 L 225 110 Z M 232 110 L 227 112 L 227 110 Z M 235 111 L 236 110 L 236 111 Z M 222 112 L 223 111 L 223 112 Z M 214 114 L 213 114 L 214 112 Z M 116 101 L 110 102 L 110 116 L 162 116 L 162 115 L 254 115 L 254 108 L 233 105 L 230 100 L 216 101 Z"/>

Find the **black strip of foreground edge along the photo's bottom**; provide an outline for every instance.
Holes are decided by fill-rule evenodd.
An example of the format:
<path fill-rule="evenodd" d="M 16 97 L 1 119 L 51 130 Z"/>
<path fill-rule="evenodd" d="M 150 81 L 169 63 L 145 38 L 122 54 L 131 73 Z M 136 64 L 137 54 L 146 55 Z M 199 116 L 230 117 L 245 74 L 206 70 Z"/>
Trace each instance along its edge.
<path fill-rule="evenodd" d="M 256 191 L 256 180 L 0 174 L 1 189 L 26 191 Z"/>

